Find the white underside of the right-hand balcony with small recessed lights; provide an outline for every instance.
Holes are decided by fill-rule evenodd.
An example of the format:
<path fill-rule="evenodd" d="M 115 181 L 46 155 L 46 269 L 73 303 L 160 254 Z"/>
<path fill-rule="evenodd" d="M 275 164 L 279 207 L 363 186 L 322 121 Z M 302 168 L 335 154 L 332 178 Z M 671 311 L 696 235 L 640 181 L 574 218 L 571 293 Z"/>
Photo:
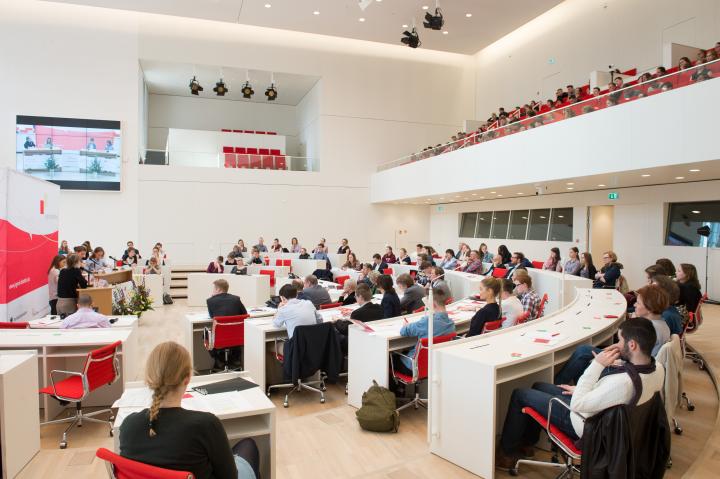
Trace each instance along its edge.
<path fill-rule="evenodd" d="M 538 186 L 543 188 L 543 194 L 548 195 L 597 191 L 603 196 L 609 192 L 618 192 L 620 196 L 622 196 L 623 188 L 689 183 L 716 179 L 720 179 L 720 160 L 663 166 L 644 170 L 628 170 L 607 175 L 565 178 L 537 184 L 520 184 L 484 190 L 447 193 L 443 195 L 419 196 L 415 198 L 408 198 L 403 201 L 387 201 L 386 203 L 438 205 L 463 203 L 468 201 L 527 198 L 528 196 L 535 196 Z"/>

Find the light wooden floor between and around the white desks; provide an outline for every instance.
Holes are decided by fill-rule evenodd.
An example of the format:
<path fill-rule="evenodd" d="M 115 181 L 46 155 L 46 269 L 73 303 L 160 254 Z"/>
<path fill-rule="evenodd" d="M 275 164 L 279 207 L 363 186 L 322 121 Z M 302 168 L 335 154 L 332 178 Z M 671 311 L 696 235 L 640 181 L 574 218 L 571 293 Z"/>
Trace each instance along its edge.
<path fill-rule="evenodd" d="M 180 300 L 143 316 L 139 328 L 143 358 L 159 342 L 180 339 L 181 320 L 188 310 Z M 705 311 L 705 323 L 690 342 L 703 352 L 711 365 L 716 365 L 713 372 L 718 373 L 720 349 L 716 345 L 720 341 L 720 307 L 709 306 Z M 133 379 L 142 379 L 142 371 Z M 690 361 L 685 368 L 685 390 L 697 407 L 693 412 L 679 411 L 684 432 L 681 436 L 673 435 L 674 465 L 666 477 L 717 477 L 720 471 L 718 398 L 708 374 Z M 309 392 L 293 396 L 288 409 L 282 407 L 281 393 L 273 401 L 278 406 L 278 479 L 477 477 L 430 454 L 426 443 L 427 416 L 422 409 L 402 412 L 398 434 L 376 434 L 358 427 L 355 409 L 346 404 L 341 385 L 328 388 L 325 404 L 320 404 L 318 397 Z M 60 450 L 57 441 L 63 427 L 42 429 L 42 450 L 19 478 L 108 477 L 104 464 L 95 458 L 98 447 L 112 449 L 107 428 L 89 424 L 76 429 L 69 437 L 68 449 Z M 543 457 L 543 453 L 539 456 Z M 521 469 L 522 477 L 554 478 L 556 475 L 557 471 L 550 468 Z M 497 477 L 509 475 L 498 472 Z"/>

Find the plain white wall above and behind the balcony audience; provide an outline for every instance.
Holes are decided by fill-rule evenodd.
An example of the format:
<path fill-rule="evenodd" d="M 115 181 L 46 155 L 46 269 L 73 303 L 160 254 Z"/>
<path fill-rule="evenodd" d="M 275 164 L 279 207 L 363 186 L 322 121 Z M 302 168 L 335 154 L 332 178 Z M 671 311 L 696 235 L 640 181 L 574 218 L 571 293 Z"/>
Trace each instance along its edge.
<path fill-rule="evenodd" d="M 664 43 L 709 48 L 718 32 L 718 0 L 566 0 L 478 52 L 477 118 L 554 98 L 611 64 L 655 68 Z"/>

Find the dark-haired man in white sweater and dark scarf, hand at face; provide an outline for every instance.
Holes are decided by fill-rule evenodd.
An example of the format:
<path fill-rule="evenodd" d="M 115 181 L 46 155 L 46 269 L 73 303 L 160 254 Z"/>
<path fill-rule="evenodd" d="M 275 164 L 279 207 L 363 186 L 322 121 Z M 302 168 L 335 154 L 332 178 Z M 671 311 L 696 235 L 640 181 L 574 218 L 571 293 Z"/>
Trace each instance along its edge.
<path fill-rule="evenodd" d="M 553 407 L 551 422 L 571 439 L 578 440 L 583 435 L 583 418 L 613 406 L 635 406 L 649 401 L 665 381 L 662 365 L 656 364 L 650 355 L 655 341 L 655 329 L 648 320 L 630 319 L 620 324 L 617 344 L 595 357 L 577 386 L 535 383 L 531 389 L 515 389 L 496 450 L 495 465 L 511 468 L 520 456 L 533 455 L 533 445 L 539 439 L 541 428 L 522 412 L 526 406 L 547 417 L 550 399 L 560 398 L 570 405 L 570 410 Z M 618 359 L 632 367 L 623 364 L 606 369 Z M 642 387 L 636 389 L 631 375 L 639 376 Z"/>

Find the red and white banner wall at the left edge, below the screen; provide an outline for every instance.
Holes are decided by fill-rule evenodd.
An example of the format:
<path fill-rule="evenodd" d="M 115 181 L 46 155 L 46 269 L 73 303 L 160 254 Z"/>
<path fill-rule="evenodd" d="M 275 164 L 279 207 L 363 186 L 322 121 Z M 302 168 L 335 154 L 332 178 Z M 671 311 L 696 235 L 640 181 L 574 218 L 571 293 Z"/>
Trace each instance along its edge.
<path fill-rule="evenodd" d="M 48 314 L 48 268 L 58 252 L 60 187 L 0 168 L 0 321 Z"/>

